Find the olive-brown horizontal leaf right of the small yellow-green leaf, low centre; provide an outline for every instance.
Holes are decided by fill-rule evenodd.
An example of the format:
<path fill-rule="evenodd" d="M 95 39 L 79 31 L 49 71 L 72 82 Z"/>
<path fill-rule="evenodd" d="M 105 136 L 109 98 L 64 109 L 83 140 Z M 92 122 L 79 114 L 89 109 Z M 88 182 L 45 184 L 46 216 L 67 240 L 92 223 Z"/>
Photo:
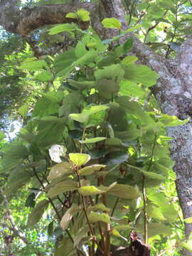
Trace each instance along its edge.
<path fill-rule="evenodd" d="M 139 197 L 137 187 L 132 187 L 124 184 L 115 184 L 107 193 L 112 193 L 120 198 L 136 199 Z"/>

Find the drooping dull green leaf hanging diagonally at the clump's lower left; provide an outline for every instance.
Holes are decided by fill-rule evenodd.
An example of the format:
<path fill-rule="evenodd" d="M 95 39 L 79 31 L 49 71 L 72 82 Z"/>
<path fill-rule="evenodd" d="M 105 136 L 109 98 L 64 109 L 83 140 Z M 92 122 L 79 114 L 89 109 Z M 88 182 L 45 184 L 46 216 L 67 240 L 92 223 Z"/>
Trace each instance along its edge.
<path fill-rule="evenodd" d="M 40 201 L 35 208 L 31 211 L 31 213 L 28 215 L 28 221 L 27 226 L 28 228 L 33 228 L 36 223 L 41 219 L 43 213 L 45 212 L 46 208 L 48 208 L 49 201 L 46 199 L 43 199 Z"/>

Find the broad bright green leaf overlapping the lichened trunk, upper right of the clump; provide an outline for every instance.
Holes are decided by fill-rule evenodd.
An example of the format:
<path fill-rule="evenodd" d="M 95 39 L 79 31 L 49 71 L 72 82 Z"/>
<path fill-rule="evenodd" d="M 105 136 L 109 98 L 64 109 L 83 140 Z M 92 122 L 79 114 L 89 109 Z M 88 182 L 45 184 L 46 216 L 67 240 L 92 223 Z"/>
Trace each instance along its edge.
<path fill-rule="evenodd" d="M 142 83 L 150 87 L 156 84 L 158 75 L 155 71 L 152 71 L 146 65 L 134 65 L 129 64 L 124 67 L 125 75 L 124 78 L 130 81 Z"/>

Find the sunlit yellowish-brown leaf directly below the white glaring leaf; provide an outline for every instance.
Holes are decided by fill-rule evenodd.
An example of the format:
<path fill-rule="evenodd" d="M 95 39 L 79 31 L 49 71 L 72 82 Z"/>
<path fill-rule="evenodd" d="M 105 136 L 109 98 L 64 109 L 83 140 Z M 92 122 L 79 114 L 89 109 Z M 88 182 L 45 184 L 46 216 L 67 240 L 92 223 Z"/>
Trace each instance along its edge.
<path fill-rule="evenodd" d="M 50 173 L 48 175 L 48 180 L 53 180 L 54 178 L 58 178 L 60 176 L 63 176 L 63 174 L 72 174 L 73 172 L 73 166 L 70 164 L 70 162 L 65 161 L 62 164 L 55 164 L 50 169 Z"/>

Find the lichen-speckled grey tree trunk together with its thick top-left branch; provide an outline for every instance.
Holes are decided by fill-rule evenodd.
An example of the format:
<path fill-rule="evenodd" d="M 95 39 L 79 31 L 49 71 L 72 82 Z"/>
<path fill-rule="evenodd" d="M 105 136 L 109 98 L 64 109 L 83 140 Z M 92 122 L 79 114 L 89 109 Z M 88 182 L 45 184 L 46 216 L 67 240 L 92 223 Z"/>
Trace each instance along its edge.
<path fill-rule="evenodd" d="M 115 30 L 103 29 L 100 21 L 106 17 L 116 17 L 122 21 L 122 27 L 127 28 L 124 9 L 121 0 L 101 0 L 101 5 L 81 3 L 78 6 L 47 5 L 33 9 L 18 9 L 16 0 L 2 1 L 0 4 L 0 24 L 7 31 L 28 35 L 36 28 L 54 23 L 76 22 L 74 19 L 65 18 L 70 11 L 85 8 L 90 11 L 91 23 L 102 38 L 117 33 Z M 83 23 L 82 26 L 87 26 Z M 165 114 L 176 115 L 180 119 L 186 119 L 192 115 L 192 38 L 183 43 L 177 58 L 166 60 L 151 51 L 144 43 L 134 37 L 133 53 L 140 62 L 148 65 L 159 74 L 156 86 L 151 90 L 159 102 L 161 110 Z M 124 38 L 122 38 L 124 40 Z M 168 135 L 174 137 L 171 147 L 171 158 L 176 162 L 176 188 L 184 218 L 192 216 L 192 122 L 181 127 L 169 127 Z M 192 231 L 192 224 L 186 224 L 186 235 Z M 186 252 L 192 255 L 192 252 Z"/>

